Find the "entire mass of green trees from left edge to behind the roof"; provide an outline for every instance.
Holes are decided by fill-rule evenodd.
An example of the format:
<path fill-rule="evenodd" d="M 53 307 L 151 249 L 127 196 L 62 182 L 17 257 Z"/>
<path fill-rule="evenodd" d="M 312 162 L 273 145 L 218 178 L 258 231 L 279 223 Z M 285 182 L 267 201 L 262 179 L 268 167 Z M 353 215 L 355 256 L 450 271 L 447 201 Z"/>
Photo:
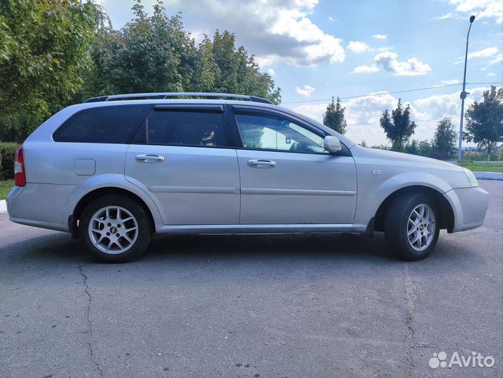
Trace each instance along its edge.
<path fill-rule="evenodd" d="M 115 30 L 79 0 L 0 1 L 0 141 L 22 141 L 64 106 L 100 94 L 232 92 L 279 104 L 280 89 L 229 31 L 200 43 L 162 1 Z"/>

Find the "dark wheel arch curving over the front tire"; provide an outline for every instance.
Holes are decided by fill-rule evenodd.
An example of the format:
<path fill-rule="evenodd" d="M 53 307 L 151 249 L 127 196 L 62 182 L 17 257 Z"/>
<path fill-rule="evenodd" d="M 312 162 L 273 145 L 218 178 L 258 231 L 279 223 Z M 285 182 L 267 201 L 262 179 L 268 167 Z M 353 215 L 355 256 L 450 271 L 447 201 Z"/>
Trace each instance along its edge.
<path fill-rule="evenodd" d="M 439 190 L 431 188 L 429 186 L 422 185 L 411 185 L 405 186 L 403 188 L 399 188 L 395 190 L 393 193 L 388 195 L 383 202 L 378 207 L 378 210 L 375 212 L 373 230 L 375 231 L 384 231 L 384 223 L 385 216 L 387 210 L 390 208 L 392 202 L 402 195 L 407 195 L 411 193 L 424 193 L 428 197 L 432 198 L 436 204 L 436 208 L 440 213 L 440 229 L 447 229 L 448 232 L 452 232 L 455 223 L 455 216 L 453 207 L 450 202 L 443 196 Z"/>

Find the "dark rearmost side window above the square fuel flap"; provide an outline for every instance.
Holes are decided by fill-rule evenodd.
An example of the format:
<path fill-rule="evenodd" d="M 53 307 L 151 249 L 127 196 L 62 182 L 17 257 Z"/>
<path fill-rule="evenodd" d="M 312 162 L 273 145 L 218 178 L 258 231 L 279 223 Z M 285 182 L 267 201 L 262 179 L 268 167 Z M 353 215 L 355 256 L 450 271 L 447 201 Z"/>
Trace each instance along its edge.
<path fill-rule="evenodd" d="M 99 106 L 84 109 L 66 120 L 54 141 L 127 144 L 151 105 Z"/>

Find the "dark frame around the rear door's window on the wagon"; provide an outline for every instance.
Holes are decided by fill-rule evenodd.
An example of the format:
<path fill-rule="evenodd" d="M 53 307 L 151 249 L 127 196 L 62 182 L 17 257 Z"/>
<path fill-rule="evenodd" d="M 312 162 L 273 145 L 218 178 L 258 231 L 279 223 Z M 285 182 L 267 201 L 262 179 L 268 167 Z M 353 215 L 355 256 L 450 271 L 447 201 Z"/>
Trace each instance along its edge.
<path fill-rule="evenodd" d="M 149 142 L 149 117 L 156 111 L 178 111 L 186 113 L 221 113 L 223 132 L 226 141 L 226 146 L 200 146 L 195 144 L 153 144 Z M 219 104 L 157 104 L 152 107 L 149 113 L 145 116 L 139 128 L 130 140 L 130 144 L 145 145 L 145 146 L 160 146 L 160 147 L 193 147 L 193 148 L 235 148 L 233 140 L 230 138 L 227 125 L 227 115 L 225 106 Z M 145 142 L 135 142 L 135 138 L 139 132 L 145 130 Z"/>

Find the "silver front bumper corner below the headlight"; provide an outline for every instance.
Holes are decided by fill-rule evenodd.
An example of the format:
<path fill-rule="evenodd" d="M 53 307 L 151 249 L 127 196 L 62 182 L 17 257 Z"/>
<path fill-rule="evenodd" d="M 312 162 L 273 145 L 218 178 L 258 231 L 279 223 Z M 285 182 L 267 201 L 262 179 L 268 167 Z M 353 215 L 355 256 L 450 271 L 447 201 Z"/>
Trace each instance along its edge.
<path fill-rule="evenodd" d="M 453 207 L 452 232 L 473 230 L 483 225 L 489 206 L 489 195 L 481 187 L 453 189 L 444 196 Z"/>

